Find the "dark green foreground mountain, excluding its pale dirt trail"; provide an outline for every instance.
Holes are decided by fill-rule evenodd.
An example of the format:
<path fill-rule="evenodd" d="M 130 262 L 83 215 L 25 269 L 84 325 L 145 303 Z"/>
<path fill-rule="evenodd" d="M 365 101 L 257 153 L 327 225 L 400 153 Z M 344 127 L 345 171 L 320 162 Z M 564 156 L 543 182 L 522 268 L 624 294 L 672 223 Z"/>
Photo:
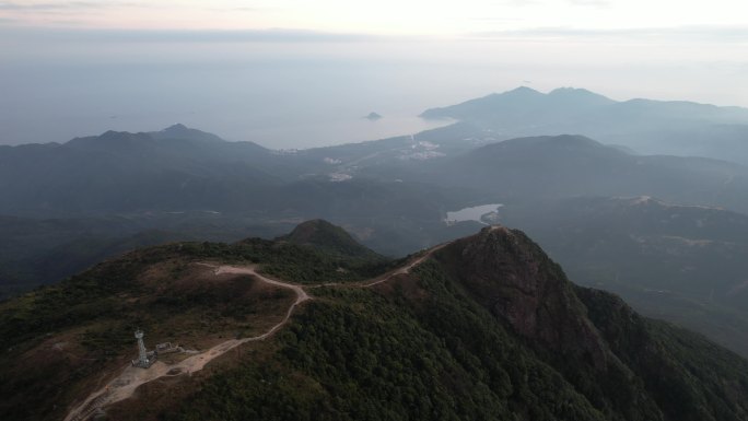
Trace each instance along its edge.
<path fill-rule="evenodd" d="M 155 409 L 140 408 L 138 419 L 748 416 L 748 362 L 640 317 L 615 295 L 574 286 L 522 232 L 486 229 L 372 288 L 350 282 L 404 262 L 254 238 L 173 244 L 101 264 L 0 304 L 0 335 L 12 338 L 0 354 L 0 393 L 8 397 L 0 417 L 62 418 L 102 372 L 121 366 L 136 326 L 154 340 L 215 343 L 265 331 L 292 302 L 289 291 L 255 289 L 249 277 L 207 276 L 196 261 L 261 264 L 287 281 L 342 284 L 308 289 L 314 300 L 272 339 L 189 379 L 160 383 Z M 129 419 L 136 412 L 128 405 L 117 404 L 112 416 Z"/>

